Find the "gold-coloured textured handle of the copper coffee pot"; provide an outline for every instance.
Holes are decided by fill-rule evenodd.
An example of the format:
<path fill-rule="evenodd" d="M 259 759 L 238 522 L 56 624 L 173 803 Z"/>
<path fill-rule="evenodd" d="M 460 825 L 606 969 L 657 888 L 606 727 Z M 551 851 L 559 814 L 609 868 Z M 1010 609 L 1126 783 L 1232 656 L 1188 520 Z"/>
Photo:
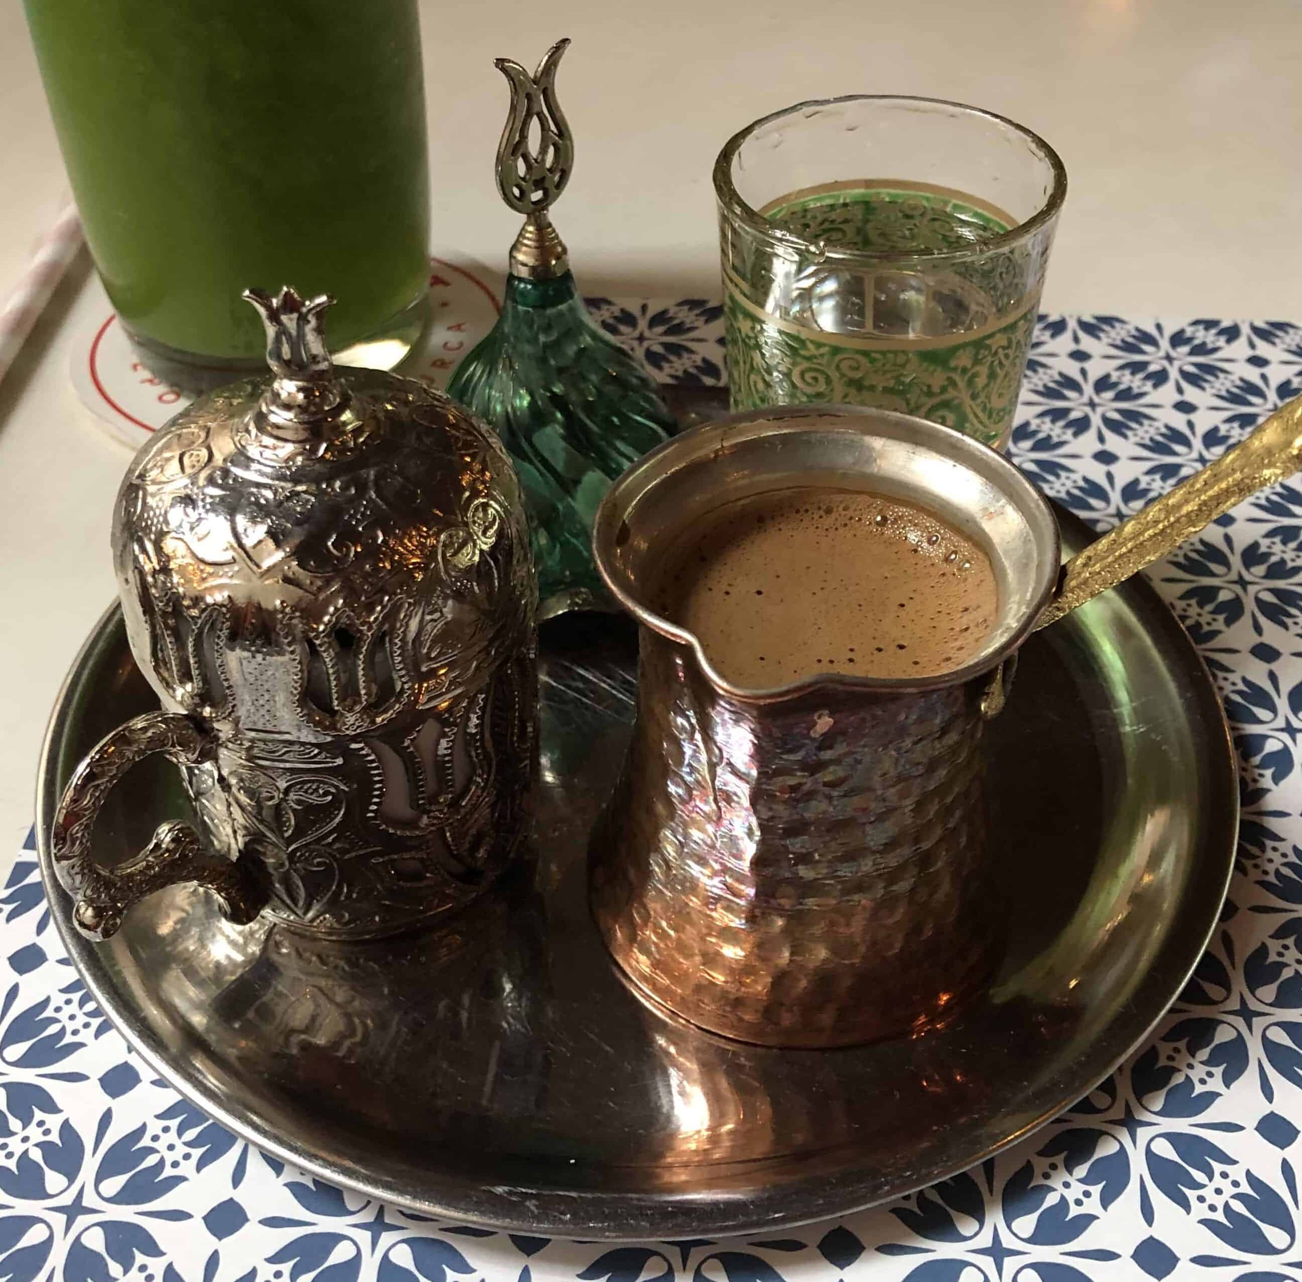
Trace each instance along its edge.
<path fill-rule="evenodd" d="M 1036 629 L 1129 579 L 1267 485 L 1302 467 L 1302 397 L 1277 409 L 1247 440 L 1182 480 L 1074 556 Z"/>

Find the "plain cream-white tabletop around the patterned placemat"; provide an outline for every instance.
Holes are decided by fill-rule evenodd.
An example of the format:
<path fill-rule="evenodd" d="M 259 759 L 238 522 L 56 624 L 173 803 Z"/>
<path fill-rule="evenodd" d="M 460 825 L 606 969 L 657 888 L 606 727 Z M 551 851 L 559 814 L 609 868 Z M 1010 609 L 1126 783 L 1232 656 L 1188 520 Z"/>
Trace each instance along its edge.
<path fill-rule="evenodd" d="M 1044 306 L 1122 315 L 1302 314 L 1302 5 L 1295 0 L 512 0 L 424 4 L 435 242 L 499 263 L 516 219 L 492 154 L 496 55 L 560 35 L 578 163 L 557 212 L 587 293 L 717 293 L 710 169 L 723 141 L 805 98 L 905 92 L 1012 116 L 1070 191 Z M 0 294 L 65 178 L 22 7 L 0 4 Z M 0 383 L 0 863 L 31 823 L 36 751 L 111 600 L 125 450 L 68 376 L 82 259 Z"/>

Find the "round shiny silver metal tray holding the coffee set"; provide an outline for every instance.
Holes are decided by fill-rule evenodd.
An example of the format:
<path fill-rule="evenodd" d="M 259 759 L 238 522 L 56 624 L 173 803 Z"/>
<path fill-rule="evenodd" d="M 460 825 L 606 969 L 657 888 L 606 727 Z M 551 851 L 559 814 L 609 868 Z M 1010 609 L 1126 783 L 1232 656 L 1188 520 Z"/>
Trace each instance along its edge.
<path fill-rule="evenodd" d="M 992 726 L 1009 927 L 992 988 L 941 1031 L 849 1050 L 712 1037 L 608 962 L 585 845 L 635 644 L 615 617 L 544 629 L 533 858 L 444 928 L 327 946 L 232 927 L 178 888 L 92 945 L 47 837 L 82 754 L 155 705 L 111 610 L 59 698 L 38 797 L 55 920 L 104 1014 L 181 1095 L 336 1184 L 458 1221 L 664 1239 L 773 1230 L 970 1166 L 1087 1092 L 1180 993 L 1225 894 L 1237 784 L 1211 679 L 1146 583 L 1034 636 Z M 138 767 L 99 858 L 185 804 L 165 765 Z"/>

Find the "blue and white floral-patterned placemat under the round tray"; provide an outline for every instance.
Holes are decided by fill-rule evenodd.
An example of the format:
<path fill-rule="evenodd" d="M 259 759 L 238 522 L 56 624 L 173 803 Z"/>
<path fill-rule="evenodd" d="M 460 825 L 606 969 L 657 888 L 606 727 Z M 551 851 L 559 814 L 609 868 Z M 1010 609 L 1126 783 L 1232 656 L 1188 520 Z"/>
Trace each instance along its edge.
<path fill-rule="evenodd" d="M 716 306 L 594 310 L 659 377 L 720 380 Z M 1044 316 L 1013 450 L 1109 525 L 1298 394 L 1297 325 Z M 155 1080 L 77 980 L 26 850 L 0 892 L 0 1282 L 1302 1279 L 1302 489 L 1250 500 L 1154 577 L 1234 725 L 1232 902 L 1160 1037 L 1029 1141 L 777 1238 L 431 1222 L 262 1156 Z"/>

